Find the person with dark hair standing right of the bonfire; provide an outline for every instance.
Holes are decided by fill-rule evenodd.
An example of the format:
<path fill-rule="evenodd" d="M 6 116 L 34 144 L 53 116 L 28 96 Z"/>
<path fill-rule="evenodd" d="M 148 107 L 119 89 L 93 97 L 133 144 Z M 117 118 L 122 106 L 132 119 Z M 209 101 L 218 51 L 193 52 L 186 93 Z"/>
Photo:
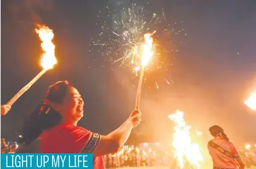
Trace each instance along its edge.
<path fill-rule="evenodd" d="M 208 142 L 208 150 L 213 159 L 213 168 L 245 168 L 242 157 L 237 148 L 230 141 L 224 130 L 220 126 L 212 126 L 209 129 L 214 139 Z"/>

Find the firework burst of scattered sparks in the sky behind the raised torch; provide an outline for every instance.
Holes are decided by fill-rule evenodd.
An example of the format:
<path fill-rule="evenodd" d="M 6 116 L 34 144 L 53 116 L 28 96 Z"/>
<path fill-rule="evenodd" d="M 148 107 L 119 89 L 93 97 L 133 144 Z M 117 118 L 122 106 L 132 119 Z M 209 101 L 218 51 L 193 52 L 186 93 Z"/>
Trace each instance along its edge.
<path fill-rule="evenodd" d="M 173 43 L 173 36 L 183 31 L 166 23 L 165 19 L 163 9 L 158 14 L 150 13 L 145 6 L 136 4 L 132 4 L 130 8 L 114 8 L 114 10 L 107 7 L 106 13 L 100 11 L 98 15 L 99 22 L 96 25 L 101 30 L 98 40 L 92 42 L 90 52 L 92 55 L 101 54 L 105 61 L 110 60 L 113 70 L 114 63 L 118 66 L 127 66 L 133 74 L 132 79 L 138 80 L 135 77 L 138 76 L 138 71 L 141 71 L 138 68 L 141 66 L 144 53 L 144 36 L 156 31 L 152 44 L 154 54 L 151 54 L 150 61 L 142 60 L 142 65 L 149 61 L 145 69 L 147 72 L 165 69 L 170 66 L 169 60 L 167 61 L 170 53 L 178 51 L 174 49 L 176 45 Z M 160 76 L 156 75 L 156 77 Z"/>

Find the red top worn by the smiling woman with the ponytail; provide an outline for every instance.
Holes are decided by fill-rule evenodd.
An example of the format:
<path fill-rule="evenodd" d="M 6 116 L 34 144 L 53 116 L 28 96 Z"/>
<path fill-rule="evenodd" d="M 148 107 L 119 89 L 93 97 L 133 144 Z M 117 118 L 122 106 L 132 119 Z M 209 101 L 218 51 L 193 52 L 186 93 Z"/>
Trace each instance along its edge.
<path fill-rule="evenodd" d="M 40 153 L 93 153 L 101 135 L 71 124 L 55 126 L 42 134 Z M 94 158 L 94 169 L 103 169 L 102 156 Z"/>

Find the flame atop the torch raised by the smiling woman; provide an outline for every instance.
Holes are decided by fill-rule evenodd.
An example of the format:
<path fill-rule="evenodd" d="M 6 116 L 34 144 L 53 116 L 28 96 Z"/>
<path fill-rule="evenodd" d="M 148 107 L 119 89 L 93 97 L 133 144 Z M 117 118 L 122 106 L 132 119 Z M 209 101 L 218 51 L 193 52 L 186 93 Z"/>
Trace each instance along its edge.
<path fill-rule="evenodd" d="M 152 34 L 154 34 L 156 31 L 154 31 Z M 141 65 L 146 66 L 147 62 L 149 62 L 150 58 L 153 56 L 154 52 L 152 51 L 153 46 L 153 38 L 150 37 L 152 34 L 147 33 L 144 34 L 145 43 L 142 45 L 143 49 L 143 56 L 141 60 Z"/>

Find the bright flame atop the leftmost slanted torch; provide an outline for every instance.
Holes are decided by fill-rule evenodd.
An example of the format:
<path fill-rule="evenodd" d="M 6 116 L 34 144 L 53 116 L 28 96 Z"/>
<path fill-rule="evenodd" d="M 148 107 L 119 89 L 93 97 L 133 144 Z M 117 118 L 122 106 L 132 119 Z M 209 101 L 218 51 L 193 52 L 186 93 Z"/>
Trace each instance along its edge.
<path fill-rule="evenodd" d="M 39 34 L 40 39 L 42 40 L 41 46 L 45 53 L 41 61 L 43 69 L 52 69 L 53 66 L 57 63 L 55 57 L 55 46 L 51 40 L 53 40 L 54 34 L 53 30 L 46 27 L 45 25 L 38 25 L 39 29 L 35 29 L 36 33 Z"/>

